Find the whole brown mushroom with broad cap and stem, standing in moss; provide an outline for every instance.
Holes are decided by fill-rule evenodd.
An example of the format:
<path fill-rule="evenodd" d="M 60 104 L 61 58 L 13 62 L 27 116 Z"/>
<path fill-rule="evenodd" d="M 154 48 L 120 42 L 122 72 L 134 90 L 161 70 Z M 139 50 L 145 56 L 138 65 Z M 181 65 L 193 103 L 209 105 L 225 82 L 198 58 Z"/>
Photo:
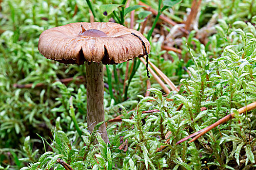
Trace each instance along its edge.
<path fill-rule="evenodd" d="M 150 43 L 138 31 L 117 23 L 77 22 L 44 31 L 39 37 L 38 49 L 46 58 L 60 63 L 85 64 L 87 126 L 92 132 L 97 123 L 104 121 L 102 64 L 142 57 L 150 51 Z M 109 142 L 105 123 L 98 131 L 102 139 Z"/>

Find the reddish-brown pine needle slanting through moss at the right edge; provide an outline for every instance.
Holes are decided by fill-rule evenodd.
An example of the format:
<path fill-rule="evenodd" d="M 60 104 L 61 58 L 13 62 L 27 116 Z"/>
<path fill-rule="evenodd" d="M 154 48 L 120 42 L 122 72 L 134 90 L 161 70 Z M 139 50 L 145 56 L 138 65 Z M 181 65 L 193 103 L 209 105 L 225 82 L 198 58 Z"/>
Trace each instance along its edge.
<path fill-rule="evenodd" d="M 242 113 L 244 113 L 244 112 L 246 112 L 246 111 L 250 111 L 250 110 L 255 109 L 255 108 L 256 108 L 256 102 L 253 102 L 253 103 L 251 103 L 251 104 L 248 104 L 248 105 L 246 105 L 246 106 L 244 106 L 244 107 L 238 109 L 237 111 L 238 111 L 239 114 L 242 114 Z M 184 141 L 186 141 L 186 140 L 188 140 L 188 139 L 190 139 L 190 138 L 192 138 L 192 137 L 194 137 L 194 136 L 196 136 L 196 137 L 194 137 L 192 140 L 189 141 L 189 143 L 190 143 L 190 142 L 194 142 L 194 141 L 197 140 L 199 137 L 203 136 L 204 134 L 206 134 L 207 132 L 209 132 L 210 130 L 212 130 L 213 128 L 215 128 L 216 126 L 218 126 L 218 125 L 220 125 L 220 124 L 222 124 L 222 123 L 225 123 L 225 122 L 227 122 L 227 121 L 230 120 L 230 119 L 233 119 L 233 118 L 234 118 L 234 115 L 235 115 L 235 113 L 231 113 L 231 114 L 225 116 L 224 118 L 219 119 L 219 120 L 218 120 L 217 122 L 215 122 L 214 124 L 211 124 L 210 126 L 204 128 L 204 129 L 202 129 L 202 130 L 200 130 L 200 131 L 198 131 L 198 132 L 196 132 L 196 133 L 194 133 L 194 134 L 192 134 L 192 135 L 190 135 L 190 136 L 187 136 L 187 137 L 185 137 L 185 138 L 179 140 L 179 141 L 176 143 L 176 145 L 179 144 L 179 143 L 181 143 L 181 142 L 184 142 Z"/>

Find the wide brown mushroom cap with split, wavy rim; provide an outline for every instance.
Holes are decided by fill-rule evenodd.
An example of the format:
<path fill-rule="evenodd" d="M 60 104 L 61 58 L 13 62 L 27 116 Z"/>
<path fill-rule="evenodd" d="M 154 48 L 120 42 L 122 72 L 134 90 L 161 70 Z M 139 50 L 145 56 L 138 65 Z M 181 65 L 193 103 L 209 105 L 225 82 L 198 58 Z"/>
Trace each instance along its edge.
<path fill-rule="evenodd" d="M 81 34 L 81 25 L 89 30 L 87 34 Z M 146 54 L 142 42 L 131 33 L 141 37 L 149 52 L 150 43 L 140 32 L 112 22 L 77 22 L 45 30 L 38 49 L 46 58 L 64 64 L 118 64 Z"/>

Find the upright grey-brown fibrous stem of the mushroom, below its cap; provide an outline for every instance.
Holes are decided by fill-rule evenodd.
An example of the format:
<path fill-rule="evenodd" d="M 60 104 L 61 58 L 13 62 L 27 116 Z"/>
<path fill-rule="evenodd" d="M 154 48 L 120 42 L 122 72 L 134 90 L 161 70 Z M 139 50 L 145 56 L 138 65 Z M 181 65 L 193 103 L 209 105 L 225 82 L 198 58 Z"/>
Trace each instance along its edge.
<path fill-rule="evenodd" d="M 93 131 L 95 125 L 101 121 L 105 121 L 104 117 L 104 83 L 103 83 L 103 65 L 102 63 L 87 63 L 86 80 L 87 80 L 87 126 L 90 132 Z M 101 134 L 102 139 L 108 143 L 108 135 L 106 125 L 103 123 L 98 132 Z"/>

